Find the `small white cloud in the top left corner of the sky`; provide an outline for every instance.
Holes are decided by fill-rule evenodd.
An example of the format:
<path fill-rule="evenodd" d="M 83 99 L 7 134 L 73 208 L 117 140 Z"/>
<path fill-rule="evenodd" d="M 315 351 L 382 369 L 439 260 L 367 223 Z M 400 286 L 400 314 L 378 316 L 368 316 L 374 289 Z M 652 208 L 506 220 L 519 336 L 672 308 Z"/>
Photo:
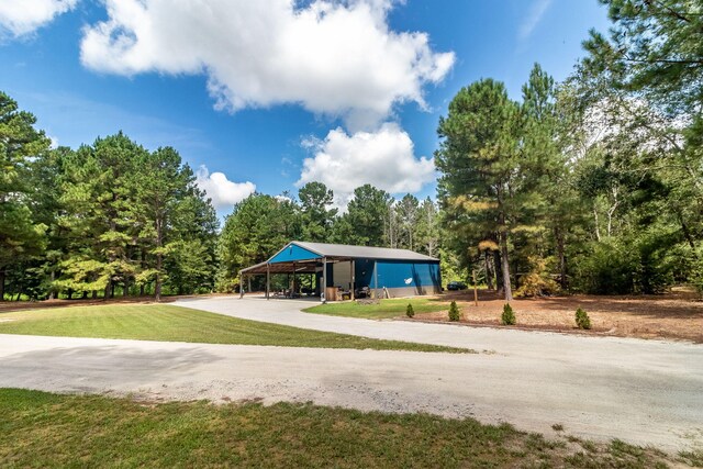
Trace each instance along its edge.
<path fill-rule="evenodd" d="M 2 0 L 0 33 L 9 32 L 15 37 L 32 33 L 77 3 L 78 0 Z"/>

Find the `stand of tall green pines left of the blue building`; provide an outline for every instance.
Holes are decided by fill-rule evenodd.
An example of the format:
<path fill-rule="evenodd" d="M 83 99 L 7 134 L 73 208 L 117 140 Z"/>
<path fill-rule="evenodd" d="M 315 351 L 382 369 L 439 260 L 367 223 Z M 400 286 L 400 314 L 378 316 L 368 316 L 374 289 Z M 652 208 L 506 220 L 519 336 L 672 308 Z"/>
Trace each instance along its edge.
<path fill-rule="evenodd" d="M 212 291 L 219 222 L 170 147 L 49 148 L 0 92 L 0 299 Z"/>

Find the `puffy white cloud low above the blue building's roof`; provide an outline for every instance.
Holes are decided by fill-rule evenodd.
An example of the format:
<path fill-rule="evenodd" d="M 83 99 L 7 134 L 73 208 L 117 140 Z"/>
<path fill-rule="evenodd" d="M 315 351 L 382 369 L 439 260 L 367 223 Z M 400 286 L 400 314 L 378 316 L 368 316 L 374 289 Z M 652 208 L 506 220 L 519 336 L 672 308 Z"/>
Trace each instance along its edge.
<path fill-rule="evenodd" d="M 354 189 L 365 183 L 390 193 L 417 192 L 436 176 L 434 158 L 415 158 L 413 142 L 394 123 L 386 123 L 377 132 L 352 135 L 336 129 L 324 141 L 304 141 L 303 147 L 313 149 L 314 157 L 303 161 L 295 186 L 323 182 L 343 209 Z"/>

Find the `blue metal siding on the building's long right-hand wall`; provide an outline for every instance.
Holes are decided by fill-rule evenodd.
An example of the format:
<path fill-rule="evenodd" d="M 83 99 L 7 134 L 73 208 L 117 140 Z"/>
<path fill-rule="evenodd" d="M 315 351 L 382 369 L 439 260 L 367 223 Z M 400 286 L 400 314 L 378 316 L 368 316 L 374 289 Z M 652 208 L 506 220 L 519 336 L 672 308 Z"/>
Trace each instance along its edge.
<path fill-rule="evenodd" d="M 440 287 L 439 263 L 378 260 L 377 269 L 378 288 L 414 287 L 422 291 Z"/>

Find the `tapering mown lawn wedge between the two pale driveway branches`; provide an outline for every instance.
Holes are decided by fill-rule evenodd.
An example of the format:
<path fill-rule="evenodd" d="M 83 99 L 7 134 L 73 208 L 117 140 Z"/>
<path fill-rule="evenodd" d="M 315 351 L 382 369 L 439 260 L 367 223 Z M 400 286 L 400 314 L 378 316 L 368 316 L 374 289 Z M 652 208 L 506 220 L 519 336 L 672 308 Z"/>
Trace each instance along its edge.
<path fill-rule="evenodd" d="M 471 351 L 310 331 L 165 304 L 93 305 L 1 313 L 0 334 L 376 350 Z"/>

